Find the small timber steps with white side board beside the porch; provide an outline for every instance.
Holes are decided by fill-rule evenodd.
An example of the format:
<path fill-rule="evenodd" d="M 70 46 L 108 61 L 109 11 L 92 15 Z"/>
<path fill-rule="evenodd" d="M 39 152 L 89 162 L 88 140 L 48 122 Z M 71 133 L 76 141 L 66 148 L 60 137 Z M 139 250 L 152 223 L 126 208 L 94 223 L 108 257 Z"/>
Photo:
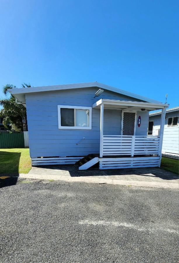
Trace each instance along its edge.
<path fill-rule="evenodd" d="M 88 154 L 81 160 L 76 162 L 76 165 L 78 165 L 79 170 L 86 170 L 88 168 L 96 169 L 99 168 L 99 160 L 98 156 L 95 154 Z"/>

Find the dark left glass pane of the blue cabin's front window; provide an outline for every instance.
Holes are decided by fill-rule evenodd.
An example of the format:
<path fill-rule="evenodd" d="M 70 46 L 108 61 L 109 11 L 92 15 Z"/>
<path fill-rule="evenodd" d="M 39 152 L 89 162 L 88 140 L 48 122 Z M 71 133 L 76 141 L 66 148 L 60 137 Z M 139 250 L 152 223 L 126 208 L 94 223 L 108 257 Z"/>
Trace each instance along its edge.
<path fill-rule="evenodd" d="M 61 126 L 74 126 L 74 109 L 61 108 Z"/>

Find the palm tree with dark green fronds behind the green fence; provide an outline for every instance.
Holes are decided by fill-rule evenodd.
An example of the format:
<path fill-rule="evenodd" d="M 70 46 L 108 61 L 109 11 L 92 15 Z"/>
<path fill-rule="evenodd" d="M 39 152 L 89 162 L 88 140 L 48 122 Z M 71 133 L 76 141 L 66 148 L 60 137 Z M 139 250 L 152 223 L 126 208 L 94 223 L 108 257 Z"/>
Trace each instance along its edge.
<path fill-rule="evenodd" d="M 22 83 L 23 88 L 30 88 L 31 85 Z M 4 95 L 8 94 L 8 89 L 16 89 L 16 86 L 6 84 L 3 86 Z M 3 109 L 0 110 L 0 116 L 5 116 L 3 124 L 8 128 L 9 123 L 12 124 L 15 130 L 27 131 L 27 114 L 24 105 L 15 101 L 15 97 L 10 95 L 10 98 L 0 99 L 0 105 Z"/>

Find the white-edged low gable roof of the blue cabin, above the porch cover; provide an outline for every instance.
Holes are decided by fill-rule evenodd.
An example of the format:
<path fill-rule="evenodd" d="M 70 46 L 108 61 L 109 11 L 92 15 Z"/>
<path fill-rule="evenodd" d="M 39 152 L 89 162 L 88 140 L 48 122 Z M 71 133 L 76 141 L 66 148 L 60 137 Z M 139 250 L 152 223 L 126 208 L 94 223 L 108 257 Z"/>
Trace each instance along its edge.
<path fill-rule="evenodd" d="M 98 87 L 100 89 L 106 89 L 113 91 L 128 97 L 136 98 L 146 102 L 161 103 L 150 98 L 140 96 L 135 93 L 131 93 L 122 89 L 117 89 L 112 86 L 108 86 L 99 82 L 86 82 L 86 83 L 74 83 L 74 84 L 65 84 L 65 85 L 55 85 L 55 86 L 41 86 L 41 87 L 31 87 L 31 88 L 20 88 L 20 89 L 9 89 L 8 91 L 15 96 L 20 102 L 25 103 L 25 94 L 33 92 L 42 92 L 42 91 L 58 91 L 58 90 L 67 90 L 67 89 L 80 89 L 80 88 L 89 88 L 89 87 Z"/>

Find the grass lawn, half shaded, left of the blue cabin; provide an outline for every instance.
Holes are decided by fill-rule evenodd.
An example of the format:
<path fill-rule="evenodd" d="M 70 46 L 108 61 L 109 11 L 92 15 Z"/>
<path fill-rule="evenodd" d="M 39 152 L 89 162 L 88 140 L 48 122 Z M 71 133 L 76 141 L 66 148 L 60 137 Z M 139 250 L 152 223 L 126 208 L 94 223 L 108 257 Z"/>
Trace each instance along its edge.
<path fill-rule="evenodd" d="M 0 149 L 0 173 L 27 174 L 31 169 L 31 160 L 28 148 Z"/>

